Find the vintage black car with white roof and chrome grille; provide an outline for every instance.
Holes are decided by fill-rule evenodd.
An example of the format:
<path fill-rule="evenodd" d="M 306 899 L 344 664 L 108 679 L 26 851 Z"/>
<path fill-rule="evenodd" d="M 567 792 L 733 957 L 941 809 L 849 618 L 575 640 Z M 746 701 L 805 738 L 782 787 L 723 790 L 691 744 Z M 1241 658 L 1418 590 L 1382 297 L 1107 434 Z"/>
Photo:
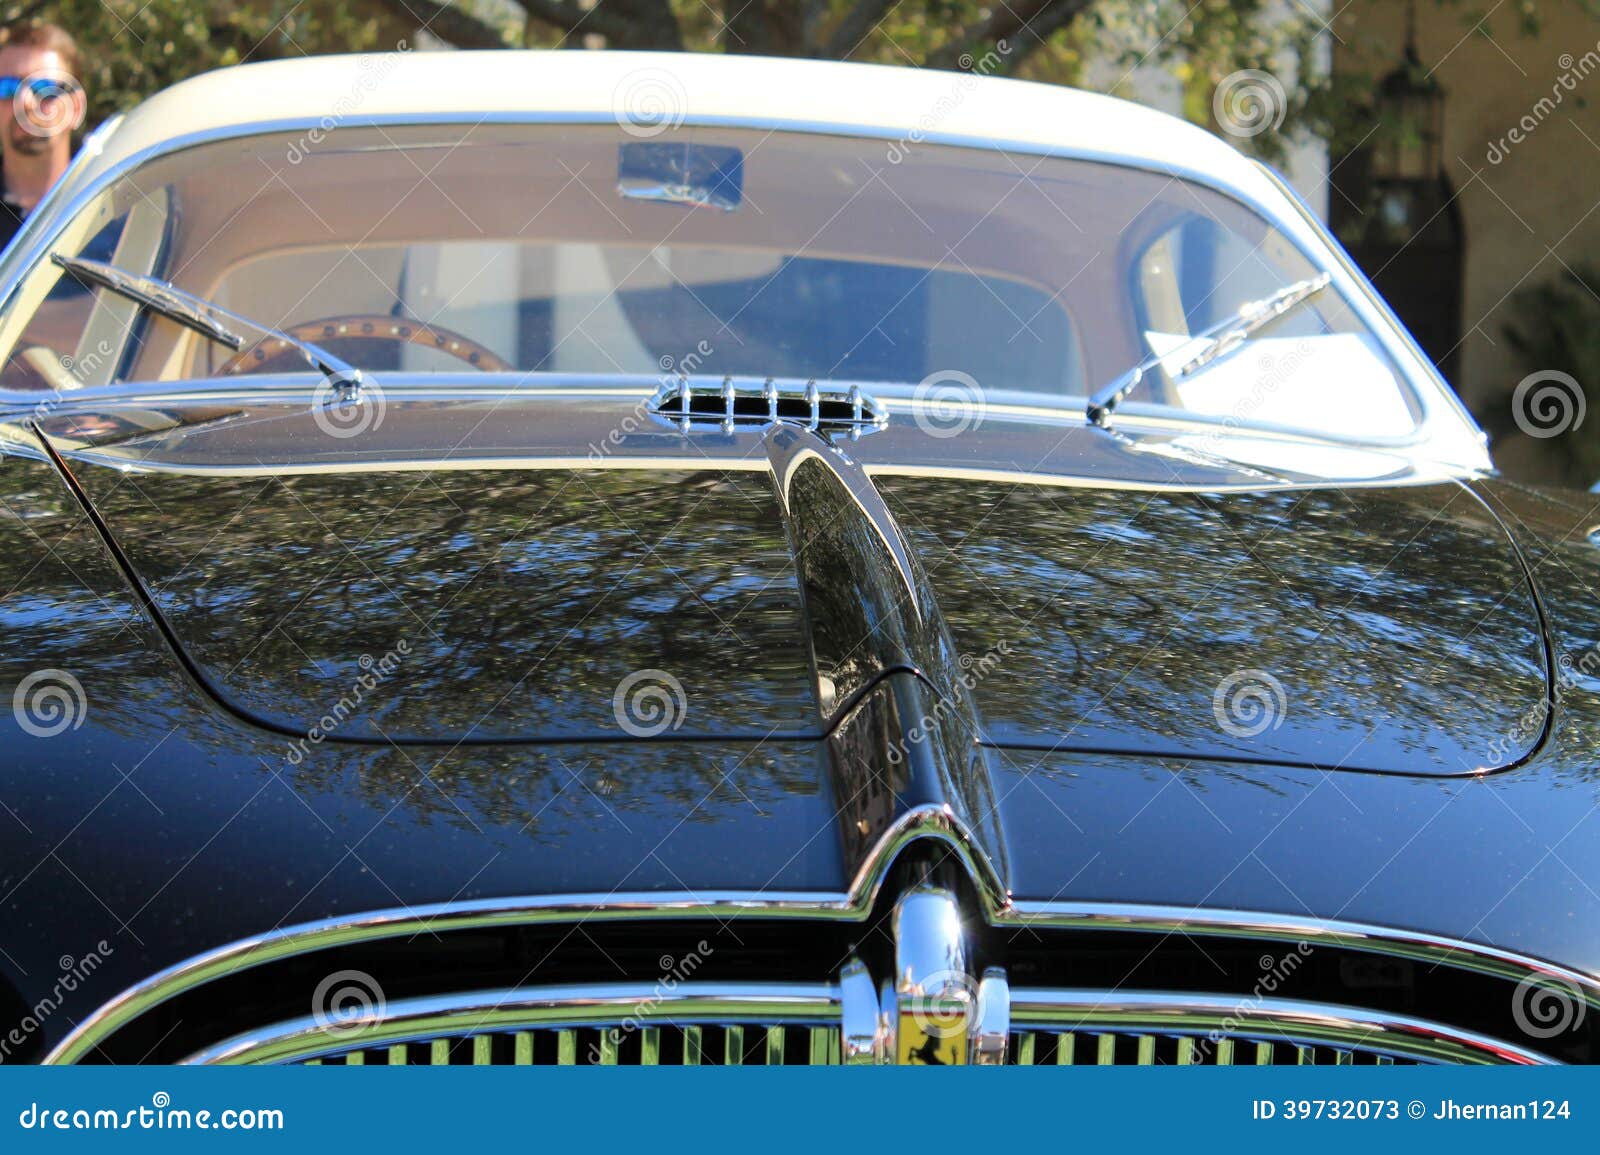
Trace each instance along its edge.
<path fill-rule="evenodd" d="M 0 363 L 8 1062 L 1595 1056 L 1595 498 L 1198 128 L 251 64 Z"/>

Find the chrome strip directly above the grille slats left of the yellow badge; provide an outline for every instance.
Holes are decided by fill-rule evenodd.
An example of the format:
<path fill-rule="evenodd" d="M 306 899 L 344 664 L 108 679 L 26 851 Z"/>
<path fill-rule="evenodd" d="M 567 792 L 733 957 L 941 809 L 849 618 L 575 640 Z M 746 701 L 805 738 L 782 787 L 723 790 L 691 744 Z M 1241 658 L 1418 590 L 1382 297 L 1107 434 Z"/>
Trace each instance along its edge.
<path fill-rule="evenodd" d="M 533 990 L 432 995 L 390 1003 L 381 1017 L 330 1025 L 307 1016 L 235 1035 L 182 1059 L 184 1064 L 245 1064 L 312 1059 L 341 1051 L 542 1027 L 595 1027 L 622 1021 L 762 1022 L 838 1025 L 840 989 L 834 984 L 602 982 Z"/>

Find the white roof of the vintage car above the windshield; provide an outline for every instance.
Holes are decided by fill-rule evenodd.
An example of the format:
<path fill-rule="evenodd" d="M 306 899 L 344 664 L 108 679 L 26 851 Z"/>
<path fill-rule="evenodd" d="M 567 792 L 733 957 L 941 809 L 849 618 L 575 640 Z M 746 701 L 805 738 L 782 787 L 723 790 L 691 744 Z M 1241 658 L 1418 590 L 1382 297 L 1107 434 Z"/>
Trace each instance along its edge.
<path fill-rule="evenodd" d="M 514 50 L 309 56 L 208 72 L 131 110 L 74 184 L 174 139 L 264 126 L 613 120 L 651 109 L 667 123 L 814 128 L 882 136 L 902 147 L 939 139 L 1104 157 L 1203 174 L 1251 198 L 1270 198 L 1254 163 L 1219 138 L 1130 101 L 1058 85 L 709 53 Z"/>

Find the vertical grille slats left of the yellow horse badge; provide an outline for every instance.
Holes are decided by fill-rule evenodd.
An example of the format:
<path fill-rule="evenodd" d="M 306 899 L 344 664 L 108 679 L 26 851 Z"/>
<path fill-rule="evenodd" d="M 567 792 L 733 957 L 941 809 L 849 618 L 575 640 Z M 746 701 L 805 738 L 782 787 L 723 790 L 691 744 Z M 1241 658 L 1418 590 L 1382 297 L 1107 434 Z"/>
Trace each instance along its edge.
<path fill-rule="evenodd" d="M 536 1029 L 442 1035 L 302 1061 L 344 1067 L 784 1067 L 840 1062 L 838 1027 Z"/>

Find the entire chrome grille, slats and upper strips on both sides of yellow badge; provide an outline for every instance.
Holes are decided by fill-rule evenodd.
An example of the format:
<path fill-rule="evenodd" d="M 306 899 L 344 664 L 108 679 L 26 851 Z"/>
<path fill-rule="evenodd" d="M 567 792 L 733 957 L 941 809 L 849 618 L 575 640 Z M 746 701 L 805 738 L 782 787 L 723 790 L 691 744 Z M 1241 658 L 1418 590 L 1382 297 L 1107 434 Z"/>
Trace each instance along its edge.
<path fill-rule="evenodd" d="M 605 984 L 467 992 L 390 1003 L 381 1019 L 341 1029 L 312 1019 L 264 1027 L 187 1062 L 832 1065 L 845 1056 L 851 1006 L 845 989 L 683 984 L 662 997 L 653 987 Z M 1014 990 L 995 1061 L 1053 1067 L 1541 1061 L 1435 1022 L 1350 1006 L 1235 998 Z M 851 1048 L 859 1049 L 859 1043 L 851 1041 Z M 893 1056 L 890 1049 L 880 1061 Z"/>

